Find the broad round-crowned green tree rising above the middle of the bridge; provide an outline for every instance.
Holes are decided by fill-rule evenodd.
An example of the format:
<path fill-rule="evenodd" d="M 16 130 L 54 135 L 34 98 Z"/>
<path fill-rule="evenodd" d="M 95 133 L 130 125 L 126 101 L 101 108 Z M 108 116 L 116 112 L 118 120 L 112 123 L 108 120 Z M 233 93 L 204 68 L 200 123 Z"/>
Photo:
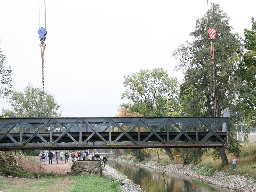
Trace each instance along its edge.
<path fill-rule="evenodd" d="M 128 87 L 122 98 L 132 101 L 131 112 L 143 116 L 171 116 L 178 107 L 178 81 L 170 78 L 163 68 L 140 70 L 139 73 L 126 75 L 124 87 Z"/>

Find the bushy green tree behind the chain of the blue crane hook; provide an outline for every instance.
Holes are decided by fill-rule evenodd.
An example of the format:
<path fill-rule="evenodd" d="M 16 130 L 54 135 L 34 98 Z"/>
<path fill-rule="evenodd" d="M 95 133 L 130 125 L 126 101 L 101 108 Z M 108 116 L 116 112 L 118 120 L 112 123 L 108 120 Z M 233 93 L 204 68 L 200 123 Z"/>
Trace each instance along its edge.
<path fill-rule="evenodd" d="M 45 113 L 43 116 L 41 102 L 41 90 L 30 84 L 25 87 L 24 92 L 12 91 L 10 93 L 10 110 L 2 110 L 5 117 L 58 117 L 60 105 L 51 94 L 44 93 Z"/>

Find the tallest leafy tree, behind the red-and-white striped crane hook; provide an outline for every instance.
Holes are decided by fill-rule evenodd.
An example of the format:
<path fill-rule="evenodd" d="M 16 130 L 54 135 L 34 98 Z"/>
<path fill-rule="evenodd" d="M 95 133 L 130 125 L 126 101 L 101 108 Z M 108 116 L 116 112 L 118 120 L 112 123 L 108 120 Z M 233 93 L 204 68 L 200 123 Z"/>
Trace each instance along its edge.
<path fill-rule="evenodd" d="M 235 70 L 239 64 L 243 49 L 241 38 L 237 33 L 232 33 L 229 17 L 214 4 L 215 28 L 215 89 L 217 96 L 217 115 L 221 110 L 234 106 L 237 100 L 237 88 L 241 87 L 235 78 Z M 213 8 L 209 10 L 210 27 L 213 27 Z M 173 56 L 180 60 L 178 69 L 185 71 L 184 82 L 180 86 L 180 99 L 185 102 L 185 114 L 190 116 L 214 116 L 213 115 L 213 81 L 212 58 L 209 38 L 207 36 L 207 14 L 198 18 L 193 32 L 190 33 L 193 41 L 187 41 Z M 188 107 L 189 103 L 189 107 Z M 231 114 L 233 117 L 234 114 Z M 234 129 L 231 129 L 234 130 Z M 193 150 L 193 149 L 190 149 Z M 203 149 L 201 149 L 203 150 Z M 219 149 L 222 164 L 227 165 L 228 160 L 223 148 Z M 192 151 L 188 151 L 188 154 Z M 198 154 L 202 154 L 198 152 Z"/>

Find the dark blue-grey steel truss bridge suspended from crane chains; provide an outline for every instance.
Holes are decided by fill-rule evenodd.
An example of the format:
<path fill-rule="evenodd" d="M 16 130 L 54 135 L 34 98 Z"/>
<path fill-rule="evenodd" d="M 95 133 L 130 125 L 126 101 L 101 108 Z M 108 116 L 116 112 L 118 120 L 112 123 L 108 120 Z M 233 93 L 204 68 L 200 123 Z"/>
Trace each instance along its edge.
<path fill-rule="evenodd" d="M 229 117 L 0 119 L 0 150 L 201 147 L 230 147 Z"/>

